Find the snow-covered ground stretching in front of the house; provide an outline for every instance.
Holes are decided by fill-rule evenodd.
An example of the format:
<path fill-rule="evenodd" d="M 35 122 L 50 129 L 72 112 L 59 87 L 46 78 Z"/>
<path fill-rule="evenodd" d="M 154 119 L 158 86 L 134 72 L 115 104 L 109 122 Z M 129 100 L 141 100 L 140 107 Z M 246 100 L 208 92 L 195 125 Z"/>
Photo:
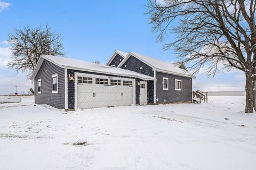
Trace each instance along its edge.
<path fill-rule="evenodd" d="M 243 113 L 244 97 L 67 114 L 33 100 L 0 104 L 2 170 L 256 167 L 256 114 Z"/>

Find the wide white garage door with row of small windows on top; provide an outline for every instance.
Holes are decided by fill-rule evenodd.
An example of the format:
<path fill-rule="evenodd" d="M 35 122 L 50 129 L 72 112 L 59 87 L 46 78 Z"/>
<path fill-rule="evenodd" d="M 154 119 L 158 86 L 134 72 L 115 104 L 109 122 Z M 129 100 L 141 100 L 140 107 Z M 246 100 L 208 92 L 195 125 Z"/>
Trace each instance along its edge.
<path fill-rule="evenodd" d="M 94 77 L 95 76 L 95 77 Z M 77 75 L 76 108 L 127 106 L 133 104 L 134 80 L 97 75 Z"/>

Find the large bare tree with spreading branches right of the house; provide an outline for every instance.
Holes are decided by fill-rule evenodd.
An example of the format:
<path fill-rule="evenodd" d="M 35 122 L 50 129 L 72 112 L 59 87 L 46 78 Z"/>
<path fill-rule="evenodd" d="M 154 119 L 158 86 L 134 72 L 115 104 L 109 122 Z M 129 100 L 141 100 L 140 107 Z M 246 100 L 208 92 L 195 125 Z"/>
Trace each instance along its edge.
<path fill-rule="evenodd" d="M 238 69 L 246 77 L 245 113 L 255 109 L 256 26 L 255 0 L 148 0 L 148 15 L 158 41 L 168 33 L 180 61 L 194 73 L 213 76 Z"/>

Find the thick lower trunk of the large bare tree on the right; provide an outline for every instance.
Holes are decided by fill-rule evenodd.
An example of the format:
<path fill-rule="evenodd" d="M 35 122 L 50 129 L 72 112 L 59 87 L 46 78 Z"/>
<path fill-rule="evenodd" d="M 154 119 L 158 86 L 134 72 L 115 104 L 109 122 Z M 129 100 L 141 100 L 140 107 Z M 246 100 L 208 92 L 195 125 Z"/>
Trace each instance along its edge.
<path fill-rule="evenodd" d="M 255 81 L 252 78 L 252 74 L 246 74 L 245 93 L 246 93 L 246 104 L 245 113 L 253 113 L 255 107 Z"/>

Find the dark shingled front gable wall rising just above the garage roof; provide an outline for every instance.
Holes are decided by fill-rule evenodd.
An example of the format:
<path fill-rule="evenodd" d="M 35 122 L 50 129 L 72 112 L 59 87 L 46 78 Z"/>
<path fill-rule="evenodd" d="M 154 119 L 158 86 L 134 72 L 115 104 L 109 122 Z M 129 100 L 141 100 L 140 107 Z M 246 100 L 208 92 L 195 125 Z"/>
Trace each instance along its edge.
<path fill-rule="evenodd" d="M 142 67 L 142 69 L 140 69 L 140 67 Z M 145 74 L 150 77 L 154 77 L 154 71 L 152 67 L 150 67 L 146 63 L 143 63 L 142 61 L 140 61 L 138 58 L 135 58 L 134 56 L 130 56 L 128 60 L 121 66 L 121 68 L 135 71 L 137 73 Z"/>

